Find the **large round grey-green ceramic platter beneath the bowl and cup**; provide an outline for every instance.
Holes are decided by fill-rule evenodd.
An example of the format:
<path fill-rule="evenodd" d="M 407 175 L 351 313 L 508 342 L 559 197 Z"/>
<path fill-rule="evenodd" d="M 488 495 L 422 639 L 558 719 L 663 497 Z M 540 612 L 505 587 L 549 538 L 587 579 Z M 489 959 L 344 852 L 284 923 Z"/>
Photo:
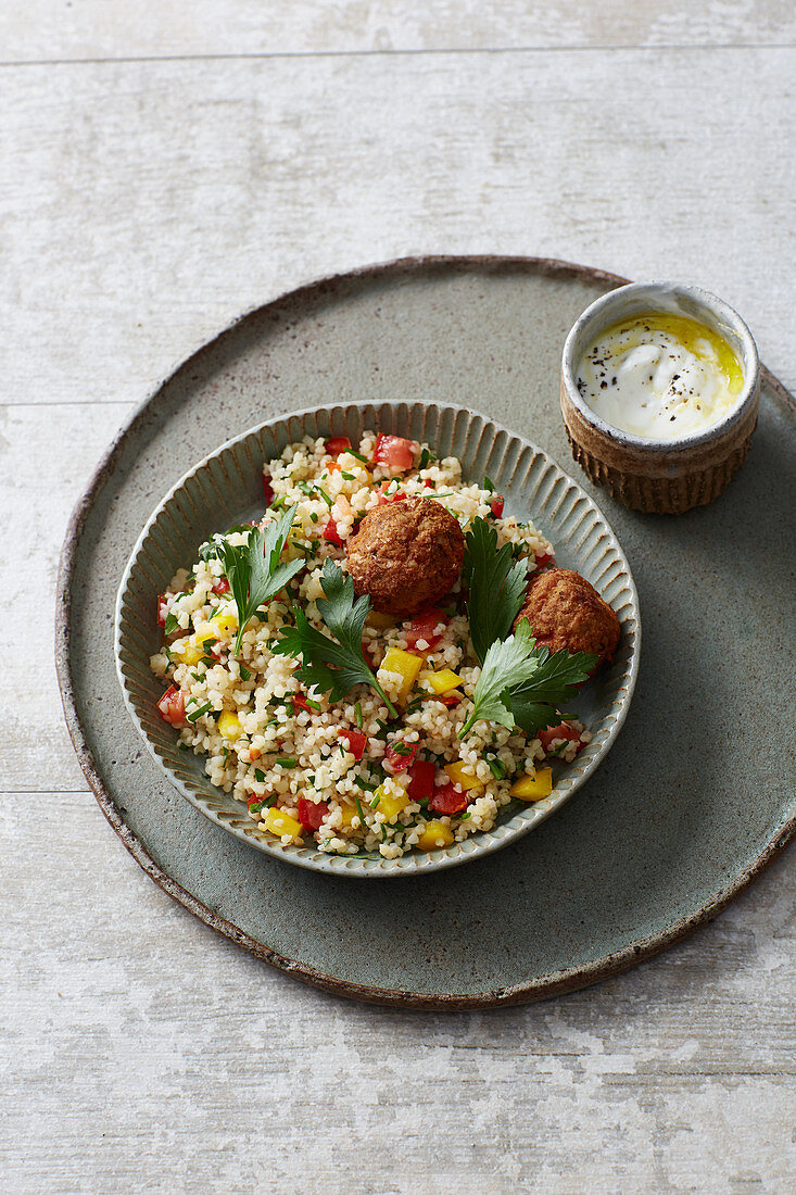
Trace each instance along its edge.
<path fill-rule="evenodd" d="M 558 409 L 567 331 L 626 280 L 526 258 L 430 258 L 252 312 L 142 406 L 67 533 L 56 655 L 99 804 L 165 891 L 327 991 L 415 1007 L 539 999 L 616 974 L 714 917 L 796 833 L 794 400 L 764 370 L 748 460 L 711 507 L 625 510 L 580 476 Z M 286 866 L 194 809 L 124 710 L 114 605 L 149 513 L 197 460 L 330 403 L 453 403 L 539 445 L 604 510 L 638 588 L 644 660 L 616 747 L 533 834 L 467 866 L 382 880 Z"/>

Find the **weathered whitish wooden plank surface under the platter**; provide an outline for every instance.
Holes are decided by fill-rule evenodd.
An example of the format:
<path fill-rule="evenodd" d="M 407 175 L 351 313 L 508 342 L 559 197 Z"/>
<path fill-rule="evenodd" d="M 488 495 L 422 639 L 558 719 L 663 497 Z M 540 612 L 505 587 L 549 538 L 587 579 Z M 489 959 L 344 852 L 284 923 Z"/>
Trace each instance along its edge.
<path fill-rule="evenodd" d="M 796 386 L 794 41 L 776 0 L 2 6 L 1 1189 L 794 1189 L 790 856 L 562 1000 L 341 1003 L 136 868 L 51 664 L 99 455 L 173 362 L 301 280 L 424 251 L 676 274 Z"/>

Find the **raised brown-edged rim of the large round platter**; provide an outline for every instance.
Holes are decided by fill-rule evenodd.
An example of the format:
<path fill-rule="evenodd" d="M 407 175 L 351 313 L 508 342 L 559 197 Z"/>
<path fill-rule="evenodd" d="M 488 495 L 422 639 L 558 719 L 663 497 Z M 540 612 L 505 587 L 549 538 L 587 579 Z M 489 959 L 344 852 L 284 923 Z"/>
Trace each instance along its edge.
<path fill-rule="evenodd" d="M 165 891 L 172 900 L 182 905 L 189 913 L 196 917 L 209 929 L 220 933 L 237 945 L 241 946 L 253 957 L 267 962 L 269 966 L 293 975 L 295 979 L 319 988 L 332 995 L 347 999 L 362 1000 L 388 1007 L 415 1009 L 418 1011 L 465 1011 L 486 1010 L 495 1007 L 507 1007 L 519 1004 L 528 1004 L 537 1000 L 549 999 L 555 995 L 563 995 L 578 988 L 588 987 L 604 979 L 620 975 L 632 969 L 638 963 L 654 958 L 655 955 L 675 945 L 700 926 L 706 925 L 717 917 L 733 900 L 749 888 L 759 876 L 785 851 L 788 845 L 796 838 L 796 814 L 782 827 L 769 841 L 757 858 L 743 868 L 735 878 L 721 888 L 709 900 L 704 901 L 693 913 L 686 914 L 672 921 L 663 930 L 653 934 L 645 934 L 636 942 L 629 943 L 622 950 L 602 955 L 600 958 L 588 963 L 577 964 L 571 968 L 553 972 L 547 975 L 514 985 L 510 988 L 496 988 L 491 992 L 466 993 L 466 994 L 429 994 L 412 993 L 409 991 L 396 991 L 392 988 L 374 987 L 371 985 L 353 983 L 348 980 L 339 980 L 327 975 L 305 963 L 288 958 L 278 951 L 271 950 L 263 943 L 245 933 L 231 921 L 220 917 L 196 896 L 188 891 L 182 884 L 173 880 L 152 858 L 142 842 L 124 822 L 121 811 L 110 796 L 105 783 L 99 774 L 88 748 L 80 715 L 78 712 L 74 686 L 72 684 L 72 669 L 69 661 L 71 645 L 71 584 L 76 564 L 76 544 L 81 528 L 92 509 L 94 498 L 102 489 L 106 478 L 112 472 L 112 466 L 127 436 L 134 431 L 147 413 L 149 405 L 160 393 L 163 386 L 180 369 L 189 367 L 192 360 L 202 353 L 209 344 L 214 343 L 225 332 L 232 331 L 249 314 L 261 308 L 269 308 L 283 302 L 286 299 L 298 299 L 302 294 L 308 294 L 329 286 L 342 278 L 362 278 L 368 274 L 386 275 L 399 269 L 424 269 L 429 265 L 448 265 L 463 271 L 478 268 L 516 268 L 527 270 L 528 274 L 550 274 L 569 276 L 592 282 L 608 283 L 612 287 L 625 286 L 630 282 L 622 275 L 600 270 L 595 266 L 581 265 L 575 262 L 565 262 L 557 258 L 527 257 L 522 255 L 428 255 L 394 258 L 388 262 L 375 263 L 360 266 L 354 270 L 345 270 L 338 274 L 327 275 L 317 281 L 307 281 L 289 290 L 274 295 L 263 304 L 257 304 L 243 314 L 235 317 L 224 329 L 214 336 L 204 339 L 189 355 L 179 360 L 152 392 L 139 404 L 124 427 L 117 433 L 110 446 L 100 458 L 93 470 L 86 488 L 78 497 L 72 515 L 67 523 L 61 556 L 59 559 L 59 572 L 56 581 L 56 617 L 55 617 L 55 666 L 61 701 L 63 705 L 67 731 L 72 740 L 80 767 L 88 782 L 99 808 L 106 821 L 122 840 L 124 847 L 133 856 L 139 866 Z M 764 366 L 760 367 L 761 380 L 778 397 L 778 399 L 794 413 L 796 413 L 796 399 L 785 386 Z"/>

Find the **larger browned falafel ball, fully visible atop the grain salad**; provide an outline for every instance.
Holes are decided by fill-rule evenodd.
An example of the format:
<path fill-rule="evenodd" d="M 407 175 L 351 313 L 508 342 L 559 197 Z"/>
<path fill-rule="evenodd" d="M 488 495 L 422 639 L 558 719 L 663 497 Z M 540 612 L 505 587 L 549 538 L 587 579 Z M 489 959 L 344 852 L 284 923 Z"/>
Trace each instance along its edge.
<path fill-rule="evenodd" d="M 373 608 L 409 618 L 433 606 L 461 572 L 461 527 L 433 498 L 404 498 L 376 507 L 348 541 L 348 571 Z"/>

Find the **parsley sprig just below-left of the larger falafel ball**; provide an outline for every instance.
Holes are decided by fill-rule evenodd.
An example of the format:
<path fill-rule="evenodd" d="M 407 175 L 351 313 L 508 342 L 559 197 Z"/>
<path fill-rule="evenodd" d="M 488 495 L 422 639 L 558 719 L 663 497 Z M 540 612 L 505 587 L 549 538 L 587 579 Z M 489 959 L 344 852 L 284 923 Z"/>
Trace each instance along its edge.
<path fill-rule="evenodd" d="M 351 577 L 332 560 L 324 563 L 320 584 L 325 596 L 318 599 L 318 611 L 337 642 L 311 626 L 304 611 L 296 608 L 295 626 L 284 627 L 271 650 L 276 655 L 301 658 L 295 675 L 306 688 L 329 693 L 331 701 L 338 701 L 355 685 L 369 685 L 392 717 L 398 717 L 362 652 L 362 630 L 371 599 L 365 595 L 355 601 Z"/>

